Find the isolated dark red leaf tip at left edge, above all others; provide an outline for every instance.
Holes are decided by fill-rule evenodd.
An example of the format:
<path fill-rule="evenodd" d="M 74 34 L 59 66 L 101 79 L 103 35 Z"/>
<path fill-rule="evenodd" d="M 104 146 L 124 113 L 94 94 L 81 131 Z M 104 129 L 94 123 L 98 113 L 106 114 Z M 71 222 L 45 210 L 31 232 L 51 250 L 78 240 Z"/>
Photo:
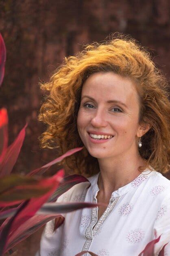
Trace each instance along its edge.
<path fill-rule="evenodd" d="M 4 79 L 5 73 L 5 61 L 6 61 L 6 47 L 4 43 L 4 39 L 0 34 L 0 85 Z"/>

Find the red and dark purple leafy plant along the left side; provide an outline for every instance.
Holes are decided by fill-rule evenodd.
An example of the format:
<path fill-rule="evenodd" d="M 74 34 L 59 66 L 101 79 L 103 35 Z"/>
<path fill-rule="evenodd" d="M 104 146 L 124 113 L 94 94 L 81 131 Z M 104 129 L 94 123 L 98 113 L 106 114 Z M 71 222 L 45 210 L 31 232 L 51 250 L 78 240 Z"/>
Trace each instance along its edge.
<path fill-rule="evenodd" d="M 4 77 L 5 58 L 5 44 L 0 34 L 0 85 Z M 56 219 L 54 230 L 57 229 L 64 221 L 61 213 L 97 206 L 91 202 L 55 202 L 60 195 L 75 184 L 89 182 L 82 175 L 64 177 L 64 170 L 61 169 L 52 177 L 40 176 L 50 166 L 82 148 L 69 150 L 26 176 L 11 174 L 20 153 L 27 126 L 28 124 L 22 128 L 15 141 L 8 146 L 7 110 L 5 108 L 0 110 L 0 219 L 5 219 L 0 226 L 0 256 L 33 234 L 49 220 Z"/>

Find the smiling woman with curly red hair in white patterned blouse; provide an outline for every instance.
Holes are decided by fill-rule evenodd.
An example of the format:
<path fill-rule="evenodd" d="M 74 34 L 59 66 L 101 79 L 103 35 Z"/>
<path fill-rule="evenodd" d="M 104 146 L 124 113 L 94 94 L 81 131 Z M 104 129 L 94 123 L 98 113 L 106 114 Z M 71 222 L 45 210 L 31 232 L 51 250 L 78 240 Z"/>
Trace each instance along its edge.
<path fill-rule="evenodd" d="M 36 255 L 137 256 L 153 239 L 170 241 L 168 83 L 133 38 L 113 36 L 65 58 L 50 82 L 39 120 L 42 147 L 83 150 L 65 161 L 88 177 L 57 202 L 104 202 L 47 223 Z M 63 163 L 61 163 L 63 164 Z M 89 255 L 89 254 L 84 254 Z M 165 247 L 170 256 L 170 243 Z"/>

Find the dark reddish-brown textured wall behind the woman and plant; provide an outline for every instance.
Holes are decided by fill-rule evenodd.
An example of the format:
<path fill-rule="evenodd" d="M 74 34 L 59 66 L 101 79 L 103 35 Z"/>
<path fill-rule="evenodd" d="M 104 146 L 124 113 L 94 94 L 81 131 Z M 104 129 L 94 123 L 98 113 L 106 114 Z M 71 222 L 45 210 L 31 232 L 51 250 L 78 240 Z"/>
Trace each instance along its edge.
<path fill-rule="evenodd" d="M 10 143 L 28 122 L 16 173 L 55 158 L 55 150 L 39 148 L 45 127 L 37 121 L 43 99 L 38 83 L 48 81 L 64 56 L 81 51 L 83 43 L 105 40 L 116 31 L 130 34 L 148 47 L 170 80 L 168 0 L 0 0 L 0 31 L 7 47 L 0 108 L 9 113 Z M 49 173 L 56 170 L 53 166 Z M 34 255 L 42 230 L 19 244 L 17 255 Z"/>

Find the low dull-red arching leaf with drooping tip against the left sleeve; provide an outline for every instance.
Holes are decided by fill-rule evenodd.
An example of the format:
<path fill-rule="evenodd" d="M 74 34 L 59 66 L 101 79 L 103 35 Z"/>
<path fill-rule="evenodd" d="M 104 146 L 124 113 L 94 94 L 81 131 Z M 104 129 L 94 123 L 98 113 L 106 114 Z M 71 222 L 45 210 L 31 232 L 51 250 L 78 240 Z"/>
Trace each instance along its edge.
<path fill-rule="evenodd" d="M 56 225 L 54 227 L 55 229 L 64 222 L 64 217 L 60 214 L 35 215 L 24 222 L 15 232 L 13 232 L 12 236 L 9 238 L 5 252 L 17 245 L 17 243 L 20 243 L 26 239 L 28 236 L 31 236 L 31 234 L 35 233 L 40 227 L 54 218 L 56 219 Z"/>

